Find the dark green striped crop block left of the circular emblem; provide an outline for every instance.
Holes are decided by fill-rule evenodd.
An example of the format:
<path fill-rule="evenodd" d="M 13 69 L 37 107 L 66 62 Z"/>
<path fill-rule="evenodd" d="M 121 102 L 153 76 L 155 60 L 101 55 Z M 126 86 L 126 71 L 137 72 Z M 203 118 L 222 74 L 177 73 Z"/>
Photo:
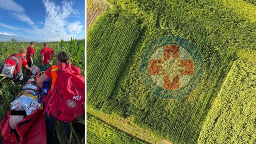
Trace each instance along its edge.
<path fill-rule="evenodd" d="M 87 33 L 87 101 L 100 108 L 110 96 L 140 32 L 127 12 L 106 12 Z"/>

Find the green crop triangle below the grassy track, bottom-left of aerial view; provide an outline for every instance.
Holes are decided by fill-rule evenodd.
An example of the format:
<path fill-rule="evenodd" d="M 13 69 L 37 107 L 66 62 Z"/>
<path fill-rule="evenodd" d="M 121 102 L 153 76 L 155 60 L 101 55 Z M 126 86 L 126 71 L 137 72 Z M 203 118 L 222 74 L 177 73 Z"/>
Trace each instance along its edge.
<path fill-rule="evenodd" d="M 121 130 L 87 114 L 87 143 L 88 144 L 145 144 Z"/>

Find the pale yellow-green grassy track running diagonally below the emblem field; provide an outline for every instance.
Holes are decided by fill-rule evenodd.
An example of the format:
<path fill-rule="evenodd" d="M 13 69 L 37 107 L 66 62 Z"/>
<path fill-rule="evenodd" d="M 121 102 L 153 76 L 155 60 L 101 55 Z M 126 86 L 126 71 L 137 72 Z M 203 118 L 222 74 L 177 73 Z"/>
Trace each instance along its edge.
<path fill-rule="evenodd" d="M 136 126 L 136 124 L 132 122 L 133 121 L 132 116 L 124 118 L 124 117 L 118 116 L 117 114 L 106 114 L 101 110 L 96 110 L 90 106 L 86 107 L 86 111 L 88 114 L 91 114 L 96 118 L 118 128 L 119 130 L 122 130 L 145 142 L 148 142 L 151 144 L 174 144 L 162 138 L 161 136 L 153 134 L 150 130 L 146 130 L 144 128 Z"/>

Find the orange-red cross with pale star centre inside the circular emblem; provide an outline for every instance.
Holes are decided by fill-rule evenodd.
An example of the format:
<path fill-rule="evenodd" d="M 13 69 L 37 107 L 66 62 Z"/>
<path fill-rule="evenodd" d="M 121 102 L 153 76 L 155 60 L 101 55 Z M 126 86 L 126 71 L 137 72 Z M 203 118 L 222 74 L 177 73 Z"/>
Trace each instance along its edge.
<path fill-rule="evenodd" d="M 172 60 L 170 54 L 172 53 Z M 176 90 L 179 88 L 179 77 L 192 75 L 194 61 L 192 59 L 180 59 L 179 47 L 176 45 L 164 46 L 164 56 L 161 59 L 150 60 L 149 73 L 151 75 L 164 76 L 164 89 Z M 170 80 L 172 78 L 172 82 Z"/>

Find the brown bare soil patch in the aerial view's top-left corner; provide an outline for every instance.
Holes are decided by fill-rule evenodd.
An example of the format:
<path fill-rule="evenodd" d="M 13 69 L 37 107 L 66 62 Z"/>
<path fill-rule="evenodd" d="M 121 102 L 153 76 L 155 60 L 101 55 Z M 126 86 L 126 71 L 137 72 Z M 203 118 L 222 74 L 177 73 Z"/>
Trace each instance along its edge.
<path fill-rule="evenodd" d="M 86 30 L 88 30 L 97 16 L 107 8 L 110 8 L 110 5 L 103 0 L 87 0 L 86 8 Z"/>

